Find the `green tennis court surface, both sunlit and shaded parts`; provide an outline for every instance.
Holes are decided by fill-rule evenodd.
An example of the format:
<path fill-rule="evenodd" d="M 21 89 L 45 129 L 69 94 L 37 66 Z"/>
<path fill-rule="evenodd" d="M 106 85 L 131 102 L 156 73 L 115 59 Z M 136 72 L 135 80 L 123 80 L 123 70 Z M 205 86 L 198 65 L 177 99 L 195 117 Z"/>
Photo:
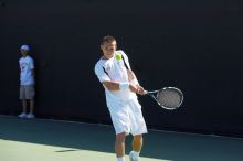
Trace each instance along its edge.
<path fill-rule="evenodd" d="M 114 137 L 110 126 L 0 116 L 0 161 L 116 161 Z M 243 161 L 243 139 L 149 130 L 140 161 Z"/>

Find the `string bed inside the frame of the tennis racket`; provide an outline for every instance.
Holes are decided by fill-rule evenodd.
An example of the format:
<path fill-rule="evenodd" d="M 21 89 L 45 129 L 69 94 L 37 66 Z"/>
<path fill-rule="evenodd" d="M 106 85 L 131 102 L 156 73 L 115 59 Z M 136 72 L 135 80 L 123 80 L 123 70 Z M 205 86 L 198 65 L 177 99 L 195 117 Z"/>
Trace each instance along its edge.
<path fill-rule="evenodd" d="M 181 95 L 175 90 L 161 90 L 157 95 L 157 100 L 161 106 L 177 108 L 181 104 Z"/>

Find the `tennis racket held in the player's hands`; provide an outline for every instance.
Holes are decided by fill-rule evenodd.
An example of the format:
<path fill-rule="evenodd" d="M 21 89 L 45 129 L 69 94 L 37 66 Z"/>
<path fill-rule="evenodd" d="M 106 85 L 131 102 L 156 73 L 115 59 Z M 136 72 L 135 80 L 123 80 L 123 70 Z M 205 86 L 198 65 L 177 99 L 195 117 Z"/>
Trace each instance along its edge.
<path fill-rule="evenodd" d="M 145 94 L 156 100 L 160 107 L 168 110 L 179 108 L 183 101 L 183 93 L 176 87 L 165 87 L 152 92 L 145 90 Z"/>

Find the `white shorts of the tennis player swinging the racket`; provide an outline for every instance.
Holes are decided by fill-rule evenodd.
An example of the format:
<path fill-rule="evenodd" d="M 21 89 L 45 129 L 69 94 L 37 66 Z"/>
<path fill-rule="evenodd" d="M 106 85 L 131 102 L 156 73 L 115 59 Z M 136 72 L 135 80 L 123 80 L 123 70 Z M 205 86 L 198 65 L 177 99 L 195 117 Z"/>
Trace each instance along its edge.
<path fill-rule="evenodd" d="M 133 136 L 147 133 L 141 106 L 137 98 L 126 103 L 119 101 L 116 106 L 109 107 L 109 114 L 116 135 L 122 132 Z"/>

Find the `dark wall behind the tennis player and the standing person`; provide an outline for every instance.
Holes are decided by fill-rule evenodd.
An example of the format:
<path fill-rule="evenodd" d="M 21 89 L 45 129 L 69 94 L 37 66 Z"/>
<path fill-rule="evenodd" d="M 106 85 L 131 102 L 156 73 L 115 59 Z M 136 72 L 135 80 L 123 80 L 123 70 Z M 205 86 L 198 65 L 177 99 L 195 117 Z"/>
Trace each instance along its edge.
<path fill-rule="evenodd" d="M 110 124 L 94 75 L 99 41 L 114 35 L 147 89 L 176 86 L 176 111 L 139 97 L 150 128 L 243 135 L 239 3 L 210 0 L 2 0 L 1 114 L 21 111 L 19 47 L 32 46 L 36 116 Z"/>

